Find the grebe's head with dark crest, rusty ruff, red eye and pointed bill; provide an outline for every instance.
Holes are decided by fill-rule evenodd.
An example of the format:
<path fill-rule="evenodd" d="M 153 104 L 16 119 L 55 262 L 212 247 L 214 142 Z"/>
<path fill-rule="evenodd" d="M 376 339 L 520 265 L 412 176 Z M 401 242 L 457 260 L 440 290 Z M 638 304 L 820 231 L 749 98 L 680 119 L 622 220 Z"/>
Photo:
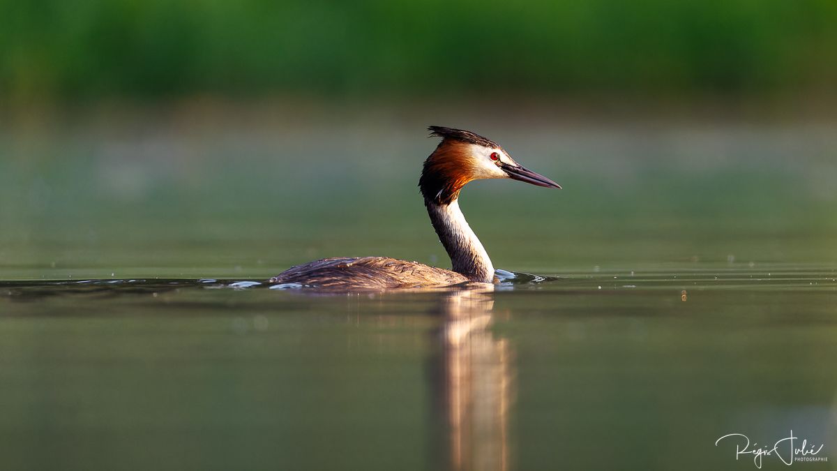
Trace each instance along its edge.
<path fill-rule="evenodd" d="M 424 161 L 419 188 L 424 199 L 450 204 L 472 180 L 515 179 L 527 184 L 560 189 L 561 185 L 516 163 L 496 142 L 451 127 L 431 126 L 430 136 L 442 142 Z"/>

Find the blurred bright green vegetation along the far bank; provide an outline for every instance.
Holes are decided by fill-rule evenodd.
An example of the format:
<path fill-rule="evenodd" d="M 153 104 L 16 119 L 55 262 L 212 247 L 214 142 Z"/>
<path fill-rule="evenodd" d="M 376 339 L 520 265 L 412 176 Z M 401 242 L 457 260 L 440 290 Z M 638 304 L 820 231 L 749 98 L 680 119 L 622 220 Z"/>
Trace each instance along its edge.
<path fill-rule="evenodd" d="M 833 0 L 0 0 L 0 99 L 829 90 Z"/>

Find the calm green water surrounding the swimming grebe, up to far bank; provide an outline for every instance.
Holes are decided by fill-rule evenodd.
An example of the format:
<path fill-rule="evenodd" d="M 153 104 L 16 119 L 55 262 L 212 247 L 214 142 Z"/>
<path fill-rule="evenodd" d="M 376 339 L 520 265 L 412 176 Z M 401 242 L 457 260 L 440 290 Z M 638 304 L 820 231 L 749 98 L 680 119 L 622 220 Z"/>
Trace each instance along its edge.
<path fill-rule="evenodd" d="M 831 458 L 794 466 L 834 467 L 830 127 L 484 122 L 565 189 L 480 182 L 463 210 L 496 267 L 555 279 L 246 283 L 448 265 L 415 188 L 434 143 L 390 118 L 3 134 L 2 467 L 749 469 L 716 439 L 790 430 Z"/>

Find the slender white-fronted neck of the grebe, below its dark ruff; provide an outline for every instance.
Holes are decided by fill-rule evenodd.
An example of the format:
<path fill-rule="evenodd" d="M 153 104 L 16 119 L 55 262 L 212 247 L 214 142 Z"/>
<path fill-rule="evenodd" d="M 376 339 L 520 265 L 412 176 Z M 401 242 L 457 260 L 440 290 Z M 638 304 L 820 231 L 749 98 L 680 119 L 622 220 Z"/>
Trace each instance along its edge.
<path fill-rule="evenodd" d="M 450 204 L 437 204 L 424 199 L 424 204 L 439 241 L 448 252 L 454 272 L 475 282 L 494 282 L 491 259 L 465 220 L 459 201 L 454 199 Z"/>

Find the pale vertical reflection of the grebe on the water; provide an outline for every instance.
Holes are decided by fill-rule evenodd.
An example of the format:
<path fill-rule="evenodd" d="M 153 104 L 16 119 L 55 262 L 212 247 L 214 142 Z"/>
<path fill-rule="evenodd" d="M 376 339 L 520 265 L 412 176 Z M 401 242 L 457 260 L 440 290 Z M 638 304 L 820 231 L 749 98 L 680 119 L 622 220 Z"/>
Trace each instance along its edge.
<path fill-rule="evenodd" d="M 448 430 L 450 468 L 507 469 L 512 352 L 492 322 L 493 285 L 445 292 L 441 342 L 434 359 L 436 399 Z"/>

